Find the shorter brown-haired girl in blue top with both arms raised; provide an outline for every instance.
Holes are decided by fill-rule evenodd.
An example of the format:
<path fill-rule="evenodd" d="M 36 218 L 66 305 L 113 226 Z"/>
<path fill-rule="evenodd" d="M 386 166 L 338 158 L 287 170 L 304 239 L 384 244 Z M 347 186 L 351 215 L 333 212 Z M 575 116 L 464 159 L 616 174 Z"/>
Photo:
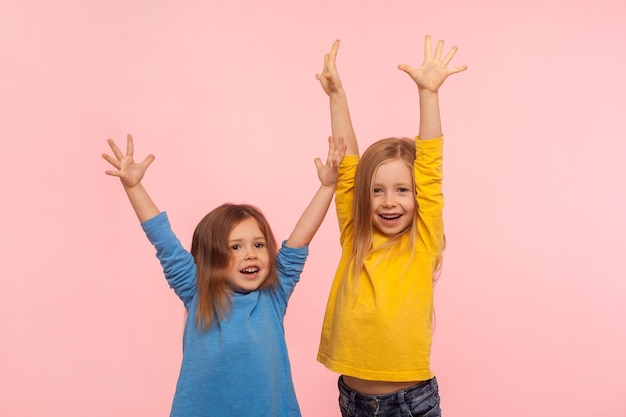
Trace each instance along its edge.
<path fill-rule="evenodd" d="M 115 169 L 105 173 L 121 180 L 168 284 L 188 313 L 170 415 L 299 417 L 283 321 L 308 244 L 335 192 L 343 139 L 329 138 L 326 162 L 315 160 L 320 188 L 280 247 L 256 207 L 223 204 L 200 221 L 191 251 L 141 183 L 154 156 L 135 162 L 131 135 L 125 154 L 108 142 L 113 156 L 102 156 Z"/>

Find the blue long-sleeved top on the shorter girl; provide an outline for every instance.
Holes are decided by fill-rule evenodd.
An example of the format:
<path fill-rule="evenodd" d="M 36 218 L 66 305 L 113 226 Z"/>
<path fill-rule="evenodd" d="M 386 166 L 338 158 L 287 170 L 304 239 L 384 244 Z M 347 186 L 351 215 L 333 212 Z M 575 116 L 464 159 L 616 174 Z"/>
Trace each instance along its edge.
<path fill-rule="evenodd" d="M 278 252 L 279 285 L 232 296 L 232 311 L 209 331 L 198 329 L 193 256 L 172 232 L 166 213 L 142 223 L 187 319 L 183 363 L 172 417 L 300 417 L 285 343 L 287 302 L 308 255 L 284 242 Z"/>

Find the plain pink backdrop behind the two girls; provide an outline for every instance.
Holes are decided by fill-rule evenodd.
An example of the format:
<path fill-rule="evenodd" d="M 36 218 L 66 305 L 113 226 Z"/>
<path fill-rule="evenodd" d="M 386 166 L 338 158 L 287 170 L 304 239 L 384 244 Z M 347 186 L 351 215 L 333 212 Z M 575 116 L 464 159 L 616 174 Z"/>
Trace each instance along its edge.
<path fill-rule="evenodd" d="M 624 416 L 626 6 L 620 0 L 29 1 L 0 5 L 0 415 L 167 416 L 182 304 L 106 139 L 185 244 L 225 202 L 281 239 L 330 132 L 332 41 L 364 149 L 417 131 L 425 34 L 469 70 L 441 91 L 448 248 L 433 368 L 446 416 Z M 339 416 L 315 361 L 331 213 L 288 311 L 305 416 Z M 253 393 L 242 393 L 247 395 Z"/>

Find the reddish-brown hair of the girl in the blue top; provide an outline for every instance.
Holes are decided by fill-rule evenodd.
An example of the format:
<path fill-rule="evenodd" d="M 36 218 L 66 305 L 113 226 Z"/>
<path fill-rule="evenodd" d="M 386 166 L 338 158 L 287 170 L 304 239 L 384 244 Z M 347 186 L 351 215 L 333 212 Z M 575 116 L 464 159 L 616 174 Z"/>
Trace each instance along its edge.
<path fill-rule="evenodd" d="M 219 323 L 230 311 L 231 291 L 226 284 L 231 257 L 228 237 L 235 226 L 248 218 L 255 219 L 261 229 L 270 258 L 269 275 L 259 290 L 273 288 L 278 283 L 278 245 L 263 213 L 248 204 L 223 204 L 215 208 L 198 223 L 191 242 L 191 254 L 197 269 L 196 323 L 202 330 Z"/>

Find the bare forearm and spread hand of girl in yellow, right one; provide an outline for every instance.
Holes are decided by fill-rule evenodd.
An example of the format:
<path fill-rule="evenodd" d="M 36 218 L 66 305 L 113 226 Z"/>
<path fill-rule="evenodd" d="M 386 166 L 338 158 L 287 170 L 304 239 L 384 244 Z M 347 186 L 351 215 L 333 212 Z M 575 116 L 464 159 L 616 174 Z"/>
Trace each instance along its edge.
<path fill-rule="evenodd" d="M 440 40 L 437 42 L 433 56 L 430 35 L 426 35 L 422 66 L 415 69 L 406 64 L 398 65 L 398 68 L 409 74 L 417 84 L 420 100 L 420 139 L 433 139 L 442 135 L 441 117 L 439 115 L 439 88 L 449 75 L 467 69 L 467 65 L 448 68 L 448 63 L 457 51 L 456 46 L 453 46 L 443 59 L 441 58 L 442 51 L 443 41 Z"/>

